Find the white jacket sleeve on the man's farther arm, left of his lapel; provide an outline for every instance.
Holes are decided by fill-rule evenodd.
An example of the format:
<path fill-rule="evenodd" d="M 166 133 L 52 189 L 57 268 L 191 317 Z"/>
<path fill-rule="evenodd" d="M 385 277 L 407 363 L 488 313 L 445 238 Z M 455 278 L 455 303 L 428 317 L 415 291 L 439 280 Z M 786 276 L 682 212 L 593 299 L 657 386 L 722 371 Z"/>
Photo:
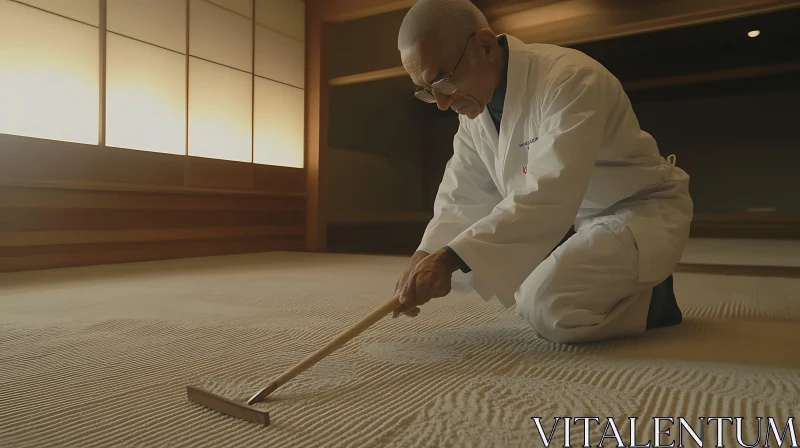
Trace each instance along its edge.
<path fill-rule="evenodd" d="M 453 156 L 447 162 L 428 223 L 418 250 L 433 253 L 448 245 L 503 199 L 486 164 L 481 160 L 467 125 L 453 138 Z"/>

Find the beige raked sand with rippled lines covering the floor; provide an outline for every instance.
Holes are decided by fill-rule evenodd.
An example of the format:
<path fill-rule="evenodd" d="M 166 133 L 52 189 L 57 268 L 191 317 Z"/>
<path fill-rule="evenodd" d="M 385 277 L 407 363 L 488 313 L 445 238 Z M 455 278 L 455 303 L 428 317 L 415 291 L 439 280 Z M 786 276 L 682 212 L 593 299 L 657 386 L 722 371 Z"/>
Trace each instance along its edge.
<path fill-rule="evenodd" d="M 390 298 L 406 262 L 276 252 L 2 274 L 0 447 L 542 446 L 533 416 L 611 416 L 622 434 L 638 417 L 639 443 L 654 416 L 741 416 L 753 443 L 758 416 L 800 420 L 800 279 L 700 274 L 675 277 L 684 324 L 639 338 L 557 345 L 453 293 L 280 388 L 258 405 L 268 428 L 187 401 L 187 384 L 244 400 Z"/>

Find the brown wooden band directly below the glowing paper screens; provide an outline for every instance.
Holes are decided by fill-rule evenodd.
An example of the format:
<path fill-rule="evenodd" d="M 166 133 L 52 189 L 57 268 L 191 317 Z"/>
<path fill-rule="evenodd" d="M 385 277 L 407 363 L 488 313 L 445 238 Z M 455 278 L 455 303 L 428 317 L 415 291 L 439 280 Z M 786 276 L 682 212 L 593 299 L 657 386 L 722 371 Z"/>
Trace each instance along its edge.
<path fill-rule="evenodd" d="M 0 134 L 0 185 L 305 194 L 301 168 Z"/>

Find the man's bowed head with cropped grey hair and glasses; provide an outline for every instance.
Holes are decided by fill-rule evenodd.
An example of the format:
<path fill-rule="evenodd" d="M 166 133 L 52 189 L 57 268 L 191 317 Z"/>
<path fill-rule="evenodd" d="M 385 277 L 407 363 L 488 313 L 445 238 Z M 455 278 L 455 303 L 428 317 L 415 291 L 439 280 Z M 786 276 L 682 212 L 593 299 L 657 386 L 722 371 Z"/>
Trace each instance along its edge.
<path fill-rule="evenodd" d="M 469 0 L 420 0 L 403 19 L 397 48 L 418 97 L 471 119 L 492 99 L 504 68 L 497 36 Z"/>

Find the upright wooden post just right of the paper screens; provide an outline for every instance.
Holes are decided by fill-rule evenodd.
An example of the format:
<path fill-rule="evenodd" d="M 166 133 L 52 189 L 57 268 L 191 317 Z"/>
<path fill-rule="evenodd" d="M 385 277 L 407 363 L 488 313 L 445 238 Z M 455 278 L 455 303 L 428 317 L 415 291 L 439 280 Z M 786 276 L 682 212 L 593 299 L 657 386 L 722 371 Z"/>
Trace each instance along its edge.
<path fill-rule="evenodd" d="M 325 22 L 323 5 L 336 2 L 306 3 L 306 250 L 324 252 L 326 224 L 324 213 L 325 155 L 328 146 L 328 76 L 325 68 Z"/>

